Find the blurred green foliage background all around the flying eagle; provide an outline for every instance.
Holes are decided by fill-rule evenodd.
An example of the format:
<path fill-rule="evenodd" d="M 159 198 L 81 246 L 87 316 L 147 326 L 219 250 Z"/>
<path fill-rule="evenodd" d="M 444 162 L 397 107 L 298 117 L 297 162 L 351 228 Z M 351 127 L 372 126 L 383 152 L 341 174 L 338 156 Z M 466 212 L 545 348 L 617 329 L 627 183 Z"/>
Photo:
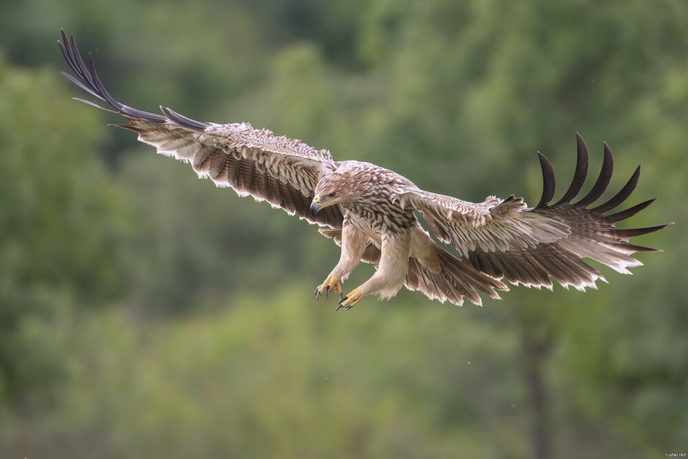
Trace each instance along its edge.
<path fill-rule="evenodd" d="M 688 450 L 685 0 L 3 0 L 1 458 L 658 458 Z M 332 241 L 70 100 L 249 121 L 424 189 L 534 204 L 615 153 L 633 277 L 483 308 L 312 291 Z M 585 191 L 585 189 L 584 189 Z M 346 288 L 372 272 L 361 266 Z"/>

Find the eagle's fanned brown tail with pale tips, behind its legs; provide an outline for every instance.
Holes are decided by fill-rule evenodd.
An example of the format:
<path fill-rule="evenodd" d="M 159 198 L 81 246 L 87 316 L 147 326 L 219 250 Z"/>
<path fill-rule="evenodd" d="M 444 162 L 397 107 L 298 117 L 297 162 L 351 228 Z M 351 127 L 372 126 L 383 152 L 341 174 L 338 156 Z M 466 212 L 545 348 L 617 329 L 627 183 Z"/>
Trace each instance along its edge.
<path fill-rule="evenodd" d="M 419 290 L 430 299 L 449 301 L 457 306 L 462 305 L 464 297 L 471 303 L 482 305 L 477 290 L 494 299 L 500 299 L 496 290 L 509 290 L 502 282 L 481 273 L 437 244 L 435 250 L 440 257 L 440 272 L 434 273 L 417 259 L 409 258 L 409 274 L 404 284 L 406 288 Z"/>

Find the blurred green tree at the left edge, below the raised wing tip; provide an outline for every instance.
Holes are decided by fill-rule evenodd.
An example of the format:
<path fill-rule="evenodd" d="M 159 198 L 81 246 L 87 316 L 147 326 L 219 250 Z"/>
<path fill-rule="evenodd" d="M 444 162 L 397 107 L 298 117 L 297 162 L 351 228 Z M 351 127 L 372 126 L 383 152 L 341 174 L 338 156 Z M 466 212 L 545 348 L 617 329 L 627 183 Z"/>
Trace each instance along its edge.
<path fill-rule="evenodd" d="M 0 404 L 18 407 L 47 401 L 65 308 L 123 293 L 127 213 L 93 153 L 101 122 L 56 80 L 0 61 Z"/>

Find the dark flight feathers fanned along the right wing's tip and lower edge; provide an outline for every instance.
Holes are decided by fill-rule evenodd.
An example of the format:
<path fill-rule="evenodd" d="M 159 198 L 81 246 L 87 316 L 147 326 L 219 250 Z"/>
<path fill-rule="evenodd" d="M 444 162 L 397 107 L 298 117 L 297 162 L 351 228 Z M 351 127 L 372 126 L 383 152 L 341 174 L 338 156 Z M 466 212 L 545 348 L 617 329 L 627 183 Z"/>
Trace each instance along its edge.
<path fill-rule="evenodd" d="M 543 193 L 533 212 L 563 221 L 571 228 L 571 234 L 557 242 L 537 244 L 535 248 L 519 248 L 506 252 L 487 251 L 478 247 L 469 253 L 469 260 L 476 268 L 488 275 L 506 277 L 513 284 L 552 287 L 550 277 L 563 286 L 584 289 L 593 287 L 596 279 L 604 280 L 599 271 L 586 264 L 581 258 L 591 258 L 610 266 L 620 273 L 630 273 L 627 267 L 638 266 L 640 261 L 630 257 L 638 251 L 652 251 L 654 248 L 630 244 L 629 238 L 658 231 L 666 225 L 645 228 L 616 228 L 614 223 L 632 217 L 645 209 L 654 200 L 647 200 L 635 206 L 605 215 L 625 202 L 638 184 L 640 167 L 630 180 L 610 200 L 599 206 L 588 208 L 606 191 L 612 179 L 614 157 L 605 144 L 604 161 L 599 178 L 592 189 L 579 201 L 571 201 L 583 188 L 588 175 L 589 153 L 583 138 L 577 135 L 578 160 L 574 178 L 568 191 L 555 204 L 548 204 L 555 193 L 555 173 L 552 164 L 542 154 L 539 159 L 543 176 Z"/>

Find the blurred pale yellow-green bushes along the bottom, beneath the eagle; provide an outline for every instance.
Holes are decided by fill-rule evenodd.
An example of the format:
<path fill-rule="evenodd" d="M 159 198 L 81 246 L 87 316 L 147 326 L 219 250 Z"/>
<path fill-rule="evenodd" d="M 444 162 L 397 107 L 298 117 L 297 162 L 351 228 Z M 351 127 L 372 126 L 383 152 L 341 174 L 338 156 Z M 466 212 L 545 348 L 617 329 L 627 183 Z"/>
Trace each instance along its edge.
<path fill-rule="evenodd" d="M 71 343 L 73 389 L 40 436 L 76 455 L 95 428 L 111 434 L 101 448 L 131 458 L 451 458 L 487 442 L 497 454 L 519 447 L 517 436 L 493 442 L 479 427 L 508 430 L 524 413 L 513 337 L 493 340 L 494 324 L 454 323 L 468 310 L 433 308 L 409 327 L 391 305 L 332 321 L 331 308 L 283 298 L 305 304 L 310 295 L 291 287 L 268 301 L 248 296 L 145 334 L 117 311 L 87 314 Z M 367 333 L 352 339 L 352 328 Z M 484 380 L 495 373 L 504 377 Z M 464 395 L 475 385 L 488 388 L 484 398 Z"/>

